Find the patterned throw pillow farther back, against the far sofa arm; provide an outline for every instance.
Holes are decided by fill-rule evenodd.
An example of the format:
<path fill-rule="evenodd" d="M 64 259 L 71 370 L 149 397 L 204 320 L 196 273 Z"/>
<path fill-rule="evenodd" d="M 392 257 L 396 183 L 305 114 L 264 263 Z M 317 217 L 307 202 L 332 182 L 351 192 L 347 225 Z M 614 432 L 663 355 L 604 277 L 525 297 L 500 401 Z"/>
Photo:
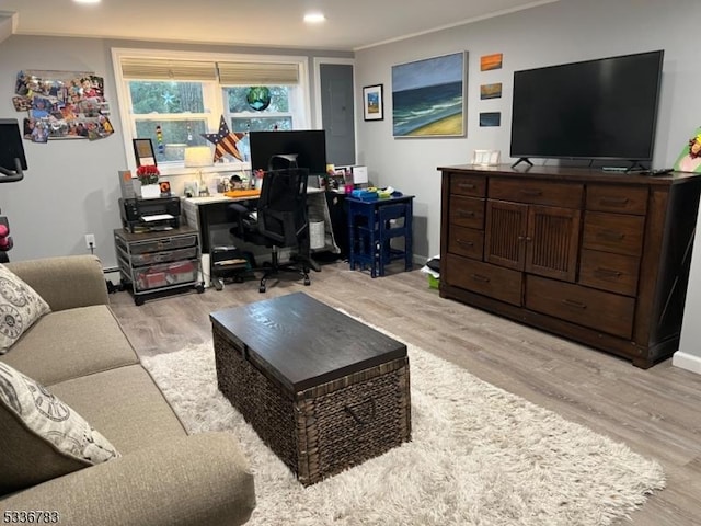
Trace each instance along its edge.
<path fill-rule="evenodd" d="M 7 353 L 32 323 L 50 311 L 32 287 L 0 264 L 0 354 Z"/>

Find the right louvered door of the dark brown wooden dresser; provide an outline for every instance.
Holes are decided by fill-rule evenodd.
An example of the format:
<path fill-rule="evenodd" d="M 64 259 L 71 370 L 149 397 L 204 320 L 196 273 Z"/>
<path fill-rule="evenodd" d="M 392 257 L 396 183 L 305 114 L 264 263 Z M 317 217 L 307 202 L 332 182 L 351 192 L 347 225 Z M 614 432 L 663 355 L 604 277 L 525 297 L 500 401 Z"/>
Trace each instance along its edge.
<path fill-rule="evenodd" d="M 528 209 L 526 272 L 574 282 L 577 273 L 581 211 L 554 206 Z"/>

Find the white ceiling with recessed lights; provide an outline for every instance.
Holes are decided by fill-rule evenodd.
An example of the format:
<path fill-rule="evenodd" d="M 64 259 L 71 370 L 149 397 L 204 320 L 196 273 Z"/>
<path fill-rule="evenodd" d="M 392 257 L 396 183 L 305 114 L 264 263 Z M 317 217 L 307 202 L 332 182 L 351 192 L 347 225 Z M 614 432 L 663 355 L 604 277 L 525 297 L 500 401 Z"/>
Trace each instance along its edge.
<path fill-rule="evenodd" d="M 12 34 L 357 50 L 556 0 L 2 0 Z M 302 22 L 321 11 L 325 22 Z M 9 24 L 8 24 L 9 25 Z"/>

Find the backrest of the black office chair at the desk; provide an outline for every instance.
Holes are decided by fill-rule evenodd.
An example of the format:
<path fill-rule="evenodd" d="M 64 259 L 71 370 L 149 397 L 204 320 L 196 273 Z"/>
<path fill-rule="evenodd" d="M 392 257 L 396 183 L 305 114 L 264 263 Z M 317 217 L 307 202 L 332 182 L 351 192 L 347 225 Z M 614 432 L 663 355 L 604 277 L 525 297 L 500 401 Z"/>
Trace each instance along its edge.
<path fill-rule="evenodd" d="M 303 244 L 309 236 L 309 170 L 269 170 L 263 176 L 257 205 L 258 232 L 279 247 Z"/>

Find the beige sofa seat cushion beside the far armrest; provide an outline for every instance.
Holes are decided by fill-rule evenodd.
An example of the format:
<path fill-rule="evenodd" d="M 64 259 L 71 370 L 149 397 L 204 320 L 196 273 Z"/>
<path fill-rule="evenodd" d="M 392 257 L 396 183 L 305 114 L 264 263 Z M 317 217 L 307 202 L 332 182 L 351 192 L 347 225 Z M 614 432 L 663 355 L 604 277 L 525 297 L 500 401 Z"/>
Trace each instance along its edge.
<path fill-rule="evenodd" d="M 96 305 L 44 316 L 1 361 L 51 386 L 139 358 L 110 307 Z"/>

